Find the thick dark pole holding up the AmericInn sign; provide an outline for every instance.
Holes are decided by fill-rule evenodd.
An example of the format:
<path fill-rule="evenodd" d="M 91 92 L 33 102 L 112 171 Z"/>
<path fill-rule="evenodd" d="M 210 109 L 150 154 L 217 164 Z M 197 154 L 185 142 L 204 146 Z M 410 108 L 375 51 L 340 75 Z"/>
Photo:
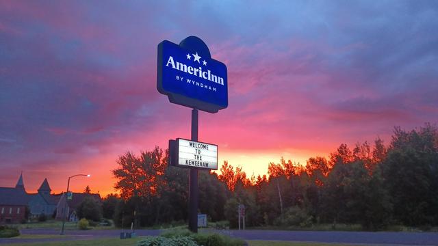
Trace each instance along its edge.
<path fill-rule="evenodd" d="M 192 141 L 198 141 L 198 109 L 192 109 Z M 198 232 L 198 169 L 190 168 L 189 229 Z"/>

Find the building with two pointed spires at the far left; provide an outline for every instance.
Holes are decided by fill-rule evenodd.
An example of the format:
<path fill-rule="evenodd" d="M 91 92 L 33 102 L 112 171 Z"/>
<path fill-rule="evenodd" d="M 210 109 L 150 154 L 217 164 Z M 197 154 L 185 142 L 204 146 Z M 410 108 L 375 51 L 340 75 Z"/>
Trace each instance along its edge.
<path fill-rule="evenodd" d="M 23 174 L 18 178 L 14 188 L 0 187 L 0 223 L 20 223 L 25 220 L 26 208 L 30 217 L 44 214 L 51 217 L 59 195 L 50 193 L 51 189 L 47 178 L 42 182 L 38 193 L 27 193 L 23 182 Z"/>

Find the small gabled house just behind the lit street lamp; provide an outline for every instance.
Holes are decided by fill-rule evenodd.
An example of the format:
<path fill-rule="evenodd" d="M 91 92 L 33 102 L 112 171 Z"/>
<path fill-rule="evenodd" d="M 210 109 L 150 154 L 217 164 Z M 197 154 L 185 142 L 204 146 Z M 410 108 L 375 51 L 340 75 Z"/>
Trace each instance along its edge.
<path fill-rule="evenodd" d="M 78 221 L 80 218 L 77 217 L 77 208 L 79 207 L 79 204 L 83 202 L 83 200 L 86 197 L 91 197 L 92 199 L 96 200 L 96 202 L 101 203 L 101 195 L 99 194 L 88 194 L 88 193 L 73 193 L 72 199 L 67 200 L 67 206 L 66 205 L 66 193 L 62 193 L 60 197 L 60 201 L 57 203 L 56 206 L 56 219 L 62 219 L 64 216 L 64 206 L 66 208 L 66 219 L 68 221 Z"/>

